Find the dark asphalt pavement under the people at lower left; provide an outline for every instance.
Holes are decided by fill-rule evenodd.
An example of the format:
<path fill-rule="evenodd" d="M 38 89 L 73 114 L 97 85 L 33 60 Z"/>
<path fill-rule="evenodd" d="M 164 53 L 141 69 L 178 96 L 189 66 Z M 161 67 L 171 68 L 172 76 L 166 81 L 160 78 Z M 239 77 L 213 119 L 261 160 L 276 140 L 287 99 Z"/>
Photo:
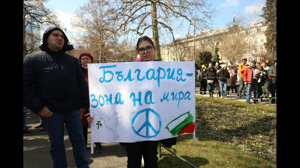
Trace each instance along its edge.
<path fill-rule="evenodd" d="M 33 134 L 23 136 L 23 168 L 52 168 L 52 158 L 50 155 L 50 142 L 46 130 L 35 129 L 39 124 L 39 117 L 32 111 L 28 111 L 28 120 L 26 125 Z M 65 128 L 65 148 L 68 168 L 76 168 L 73 157 L 72 144 L 69 140 Z M 119 143 L 101 143 L 103 152 L 91 154 L 91 127 L 88 127 L 88 148 L 87 154 L 90 168 L 127 168 L 126 148 Z"/>

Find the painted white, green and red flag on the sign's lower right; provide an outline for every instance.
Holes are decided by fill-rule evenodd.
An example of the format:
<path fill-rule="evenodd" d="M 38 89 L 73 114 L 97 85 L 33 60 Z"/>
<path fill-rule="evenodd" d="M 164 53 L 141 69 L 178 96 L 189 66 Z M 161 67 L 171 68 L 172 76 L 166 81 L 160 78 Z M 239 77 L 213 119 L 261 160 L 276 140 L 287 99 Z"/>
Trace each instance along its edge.
<path fill-rule="evenodd" d="M 193 134 L 193 118 L 194 117 L 192 114 L 189 114 L 188 111 L 168 123 L 166 129 L 172 134 L 173 137 L 184 133 Z"/>

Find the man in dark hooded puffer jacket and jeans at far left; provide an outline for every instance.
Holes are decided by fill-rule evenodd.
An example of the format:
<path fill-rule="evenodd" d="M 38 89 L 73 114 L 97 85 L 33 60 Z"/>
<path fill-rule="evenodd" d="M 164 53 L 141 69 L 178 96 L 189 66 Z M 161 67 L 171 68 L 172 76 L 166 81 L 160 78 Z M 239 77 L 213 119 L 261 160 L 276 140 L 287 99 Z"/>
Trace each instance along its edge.
<path fill-rule="evenodd" d="M 65 53 L 74 48 L 60 28 L 48 27 L 40 49 L 23 61 L 23 104 L 42 116 L 53 167 L 67 167 L 64 125 L 77 167 L 89 167 L 80 120 L 89 108 L 88 86 L 78 59 Z"/>

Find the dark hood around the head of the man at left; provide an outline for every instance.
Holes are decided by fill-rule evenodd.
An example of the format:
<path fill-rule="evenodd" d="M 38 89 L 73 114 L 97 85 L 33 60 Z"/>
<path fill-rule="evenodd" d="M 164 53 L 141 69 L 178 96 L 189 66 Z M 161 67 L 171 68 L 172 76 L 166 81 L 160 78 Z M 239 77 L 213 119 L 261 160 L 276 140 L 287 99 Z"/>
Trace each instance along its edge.
<path fill-rule="evenodd" d="M 61 31 L 62 34 L 64 35 L 65 43 L 64 43 L 64 46 L 63 46 L 63 48 L 62 48 L 62 51 L 63 51 L 63 52 L 66 52 L 66 51 L 69 51 L 69 50 L 73 50 L 73 49 L 74 49 L 73 45 L 68 45 L 69 40 L 68 40 L 68 38 L 67 38 L 65 32 L 62 31 L 61 28 L 55 27 L 55 26 L 50 26 L 50 27 L 48 27 L 48 28 L 45 30 L 45 32 L 44 32 L 44 34 L 43 34 L 43 44 L 42 44 L 41 46 L 39 46 L 39 48 L 40 48 L 42 51 L 46 51 L 46 48 L 47 48 L 47 40 L 48 40 L 50 34 L 51 34 L 54 30 L 59 30 L 59 31 Z"/>

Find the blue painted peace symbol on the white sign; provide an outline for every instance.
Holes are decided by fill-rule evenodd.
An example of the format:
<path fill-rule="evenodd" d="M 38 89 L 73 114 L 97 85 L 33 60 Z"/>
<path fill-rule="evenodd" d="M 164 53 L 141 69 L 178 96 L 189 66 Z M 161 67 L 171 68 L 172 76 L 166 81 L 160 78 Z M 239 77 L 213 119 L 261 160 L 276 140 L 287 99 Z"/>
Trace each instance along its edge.
<path fill-rule="evenodd" d="M 154 114 L 154 116 L 152 115 Z M 150 119 L 150 116 L 152 116 L 152 118 Z M 140 122 L 140 120 L 145 120 L 145 122 L 139 127 L 139 126 L 135 126 L 135 121 L 139 120 L 138 123 L 142 123 Z M 156 124 L 154 124 L 153 121 L 158 121 L 155 122 Z M 150 123 L 150 121 L 152 123 Z M 161 130 L 161 119 L 159 114 L 154 111 L 153 109 L 143 109 L 141 111 L 139 111 L 132 119 L 131 122 L 131 127 L 132 130 L 135 134 L 137 134 L 138 136 L 144 137 L 144 138 L 154 138 L 156 137 L 160 130 Z M 138 127 L 137 129 L 135 127 Z"/>

